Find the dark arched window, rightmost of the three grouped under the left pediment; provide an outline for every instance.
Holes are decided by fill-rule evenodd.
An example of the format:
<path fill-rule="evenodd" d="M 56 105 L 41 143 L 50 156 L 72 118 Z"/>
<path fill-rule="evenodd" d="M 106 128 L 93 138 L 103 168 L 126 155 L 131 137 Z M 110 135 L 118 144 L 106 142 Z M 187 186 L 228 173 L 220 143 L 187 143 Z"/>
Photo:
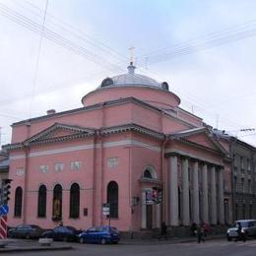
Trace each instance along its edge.
<path fill-rule="evenodd" d="M 79 218 L 80 209 L 80 187 L 78 183 L 73 183 L 70 188 L 70 205 L 69 216 L 70 218 Z"/>

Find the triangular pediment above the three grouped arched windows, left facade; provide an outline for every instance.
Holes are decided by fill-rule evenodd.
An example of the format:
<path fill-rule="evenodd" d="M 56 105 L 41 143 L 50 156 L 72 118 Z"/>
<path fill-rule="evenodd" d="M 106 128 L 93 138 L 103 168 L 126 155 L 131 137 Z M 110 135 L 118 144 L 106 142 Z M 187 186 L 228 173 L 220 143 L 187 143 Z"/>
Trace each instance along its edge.
<path fill-rule="evenodd" d="M 68 124 L 55 123 L 52 126 L 33 135 L 26 140 L 25 144 L 39 143 L 44 141 L 54 141 L 61 138 L 69 138 L 72 136 L 91 136 L 95 131 L 90 128 L 74 126 Z"/>

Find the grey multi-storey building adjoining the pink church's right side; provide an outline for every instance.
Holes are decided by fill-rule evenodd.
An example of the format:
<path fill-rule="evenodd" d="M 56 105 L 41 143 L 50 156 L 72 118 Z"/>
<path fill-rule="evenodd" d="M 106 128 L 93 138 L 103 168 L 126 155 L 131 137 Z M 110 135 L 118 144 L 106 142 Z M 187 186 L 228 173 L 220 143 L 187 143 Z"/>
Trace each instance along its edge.
<path fill-rule="evenodd" d="M 256 149 L 224 132 L 215 133 L 229 145 L 232 157 L 232 219 L 256 219 Z"/>

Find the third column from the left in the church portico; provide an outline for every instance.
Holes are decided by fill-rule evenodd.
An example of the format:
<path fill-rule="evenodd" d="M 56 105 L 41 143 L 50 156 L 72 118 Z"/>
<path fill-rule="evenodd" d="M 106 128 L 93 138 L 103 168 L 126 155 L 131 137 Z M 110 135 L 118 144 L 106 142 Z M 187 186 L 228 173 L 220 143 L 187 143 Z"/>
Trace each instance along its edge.
<path fill-rule="evenodd" d="M 192 211 L 193 211 L 193 222 L 196 224 L 200 223 L 199 220 L 199 184 L 198 184 L 198 161 L 193 163 L 193 201 L 192 201 Z"/>

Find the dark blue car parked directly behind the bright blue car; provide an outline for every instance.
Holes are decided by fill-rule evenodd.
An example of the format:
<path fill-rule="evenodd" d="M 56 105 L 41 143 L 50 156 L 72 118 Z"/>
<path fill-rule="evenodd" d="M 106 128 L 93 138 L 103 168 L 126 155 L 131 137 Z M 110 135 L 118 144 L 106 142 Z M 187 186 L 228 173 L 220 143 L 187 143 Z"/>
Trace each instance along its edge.
<path fill-rule="evenodd" d="M 58 225 L 41 234 L 42 238 L 52 238 L 54 241 L 76 241 L 80 230 L 70 225 Z"/>

